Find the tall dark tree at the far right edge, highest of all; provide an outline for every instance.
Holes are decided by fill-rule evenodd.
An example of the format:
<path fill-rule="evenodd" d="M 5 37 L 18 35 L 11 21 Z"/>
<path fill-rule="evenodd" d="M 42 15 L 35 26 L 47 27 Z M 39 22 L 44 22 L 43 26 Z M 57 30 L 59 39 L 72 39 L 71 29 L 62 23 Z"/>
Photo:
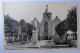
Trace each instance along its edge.
<path fill-rule="evenodd" d="M 77 31 L 77 11 L 76 8 L 69 10 L 67 15 L 68 28 L 74 32 Z"/>

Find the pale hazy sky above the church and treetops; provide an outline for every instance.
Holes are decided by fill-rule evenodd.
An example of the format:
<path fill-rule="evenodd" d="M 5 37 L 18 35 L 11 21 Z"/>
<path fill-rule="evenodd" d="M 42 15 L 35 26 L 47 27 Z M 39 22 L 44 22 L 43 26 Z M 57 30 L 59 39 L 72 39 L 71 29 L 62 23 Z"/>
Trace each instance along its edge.
<path fill-rule="evenodd" d="M 11 16 L 13 19 L 26 22 L 36 18 L 39 22 L 43 19 L 43 13 L 48 5 L 48 11 L 52 13 L 52 20 L 56 16 L 62 21 L 67 17 L 68 10 L 77 6 L 76 2 L 4 2 L 3 14 Z"/>

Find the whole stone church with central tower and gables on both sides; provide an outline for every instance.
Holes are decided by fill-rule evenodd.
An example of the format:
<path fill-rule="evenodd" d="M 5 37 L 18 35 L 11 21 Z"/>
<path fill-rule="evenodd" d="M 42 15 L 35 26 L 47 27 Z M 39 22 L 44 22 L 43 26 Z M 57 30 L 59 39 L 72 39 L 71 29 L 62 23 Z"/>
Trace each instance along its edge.
<path fill-rule="evenodd" d="M 60 19 L 58 16 L 52 20 L 52 13 L 48 11 L 48 5 L 46 5 L 46 10 L 43 13 L 43 19 L 41 23 L 38 22 L 36 18 L 32 21 L 32 24 L 37 22 L 37 29 L 38 29 L 38 39 L 40 40 L 51 40 L 54 37 L 59 37 L 57 34 L 55 27 L 60 23 Z"/>

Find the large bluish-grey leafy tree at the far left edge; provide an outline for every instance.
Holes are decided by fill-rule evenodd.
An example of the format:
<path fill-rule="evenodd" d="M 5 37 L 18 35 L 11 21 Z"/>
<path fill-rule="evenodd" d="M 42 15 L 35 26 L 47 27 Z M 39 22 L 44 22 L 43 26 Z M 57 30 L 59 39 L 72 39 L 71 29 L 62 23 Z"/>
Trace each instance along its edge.
<path fill-rule="evenodd" d="M 9 15 L 4 15 L 4 31 L 5 37 L 8 37 L 8 43 L 12 42 L 10 37 L 13 37 L 16 33 L 15 37 L 18 36 L 18 21 L 12 19 Z"/>

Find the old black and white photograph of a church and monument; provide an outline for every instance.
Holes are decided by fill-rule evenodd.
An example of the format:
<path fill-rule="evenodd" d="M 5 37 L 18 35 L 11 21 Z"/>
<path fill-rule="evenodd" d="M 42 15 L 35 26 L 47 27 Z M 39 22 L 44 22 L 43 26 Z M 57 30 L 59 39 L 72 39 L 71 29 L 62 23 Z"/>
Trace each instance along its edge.
<path fill-rule="evenodd" d="M 78 48 L 77 2 L 3 2 L 4 50 Z"/>

